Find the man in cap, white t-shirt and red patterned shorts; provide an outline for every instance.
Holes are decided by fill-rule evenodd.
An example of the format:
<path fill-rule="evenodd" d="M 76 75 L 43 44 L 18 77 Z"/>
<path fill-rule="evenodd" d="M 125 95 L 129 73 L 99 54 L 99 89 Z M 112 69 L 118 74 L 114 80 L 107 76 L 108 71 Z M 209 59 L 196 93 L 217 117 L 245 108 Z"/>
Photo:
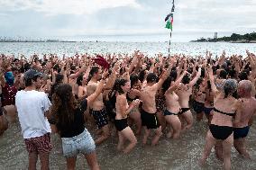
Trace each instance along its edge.
<path fill-rule="evenodd" d="M 50 143 L 50 100 L 41 87 L 41 72 L 30 69 L 24 74 L 26 88 L 18 91 L 15 96 L 23 139 L 29 153 L 29 169 L 36 169 L 38 156 L 41 169 L 49 169 L 49 156 L 52 148 Z"/>

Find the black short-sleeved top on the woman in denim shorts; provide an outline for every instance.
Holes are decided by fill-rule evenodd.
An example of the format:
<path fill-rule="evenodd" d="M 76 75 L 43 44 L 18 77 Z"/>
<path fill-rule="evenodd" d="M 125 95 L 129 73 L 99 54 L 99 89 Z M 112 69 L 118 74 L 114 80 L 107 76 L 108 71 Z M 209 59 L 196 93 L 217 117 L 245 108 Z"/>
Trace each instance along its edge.
<path fill-rule="evenodd" d="M 72 138 L 78 136 L 85 130 L 84 112 L 87 111 L 87 99 L 80 103 L 80 106 L 74 112 L 74 121 L 69 125 L 61 126 L 56 124 L 60 132 L 60 138 Z"/>

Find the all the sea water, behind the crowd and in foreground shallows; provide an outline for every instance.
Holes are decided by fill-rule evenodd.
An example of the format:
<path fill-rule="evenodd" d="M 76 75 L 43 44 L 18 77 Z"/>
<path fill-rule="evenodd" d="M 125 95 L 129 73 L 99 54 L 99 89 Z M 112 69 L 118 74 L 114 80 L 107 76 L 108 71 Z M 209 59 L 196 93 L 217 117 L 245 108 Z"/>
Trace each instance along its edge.
<path fill-rule="evenodd" d="M 78 53 L 133 53 L 139 49 L 149 56 L 168 54 L 169 42 L 8 42 L 0 43 L 0 53 L 14 54 L 15 57 L 24 54 L 54 53 L 62 56 L 72 56 Z M 221 55 L 225 50 L 227 55 L 239 54 L 245 56 L 245 50 L 256 52 L 256 44 L 236 43 L 171 43 L 170 53 L 181 53 L 190 56 L 204 56 L 206 49 L 214 55 Z M 194 114 L 194 120 L 195 114 Z M 132 127 L 133 128 L 133 127 Z M 87 129 L 96 139 L 96 129 L 87 125 Z M 151 147 L 150 143 L 142 146 L 142 136 L 137 136 L 138 145 L 129 155 L 116 150 L 117 136 L 96 147 L 96 156 L 102 170 L 198 170 L 223 169 L 223 162 L 215 157 L 214 148 L 206 161 L 206 166 L 198 166 L 198 160 L 205 146 L 208 130 L 206 118 L 194 122 L 191 130 L 181 134 L 180 139 L 168 139 L 165 135 L 160 138 L 159 145 Z M 66 169 L 66 160 L 62 156 L 61 142 L 57 134 L 51 134 L 53 149 L 50 152 L 50 169 Z M 251 126 L 246 139 L 247 149 L 251 160 L 244 159 L 232 148 L 231 162 L 233 170 L 256 169 L 256 125 Z M 40 162 L 40 160 L 39 160 Z M 40 169 L 40 165 L 37 165 Z M 9 129 L 0 137 L 0 170 L 23 170 L 28 168 L 28 153 L 26 151 L 21 127 L 18 121 L 9 124 Z M 86 158 L 78 155 L 77 169 L 88 169 Z"/>

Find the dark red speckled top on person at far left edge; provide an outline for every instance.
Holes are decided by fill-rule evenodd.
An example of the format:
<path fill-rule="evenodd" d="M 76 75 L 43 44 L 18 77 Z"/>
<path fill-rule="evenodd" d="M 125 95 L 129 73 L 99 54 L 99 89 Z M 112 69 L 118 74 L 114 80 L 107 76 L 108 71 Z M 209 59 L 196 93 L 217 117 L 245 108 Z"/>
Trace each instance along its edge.
<path fill-rule="evenodd" d="M 15 95 L 17 89 L 14 85 L 5 85 L 2 87 L 3 106 L 15 104 Z"/>

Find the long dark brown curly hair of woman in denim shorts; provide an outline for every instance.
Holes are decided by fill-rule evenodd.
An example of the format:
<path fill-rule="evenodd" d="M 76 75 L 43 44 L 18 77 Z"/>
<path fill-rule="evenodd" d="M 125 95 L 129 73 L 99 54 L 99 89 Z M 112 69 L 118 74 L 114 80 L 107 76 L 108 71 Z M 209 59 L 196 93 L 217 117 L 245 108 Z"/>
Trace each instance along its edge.
<path fill-rule="evenodd" d="M 58 85 L 52 96 L 52 103 L 52 113 L 56 123 L 60 126 L 72 124 L 78 103 L 72 94 L 71 85 Z"/>

